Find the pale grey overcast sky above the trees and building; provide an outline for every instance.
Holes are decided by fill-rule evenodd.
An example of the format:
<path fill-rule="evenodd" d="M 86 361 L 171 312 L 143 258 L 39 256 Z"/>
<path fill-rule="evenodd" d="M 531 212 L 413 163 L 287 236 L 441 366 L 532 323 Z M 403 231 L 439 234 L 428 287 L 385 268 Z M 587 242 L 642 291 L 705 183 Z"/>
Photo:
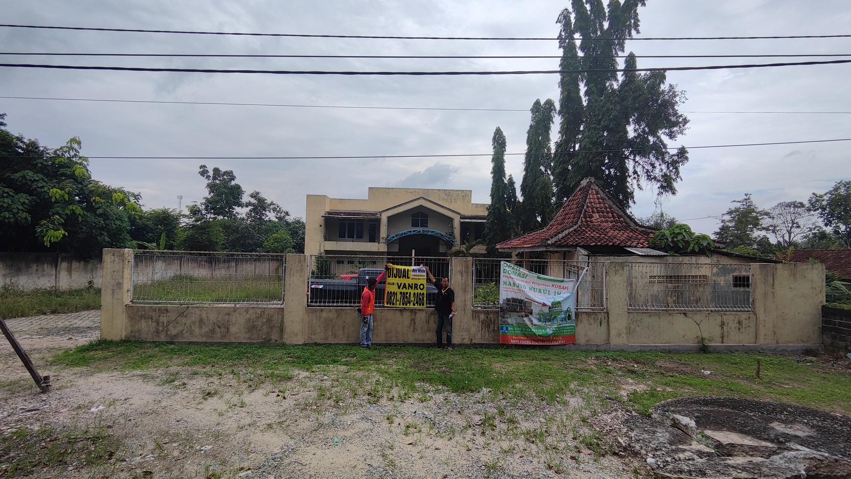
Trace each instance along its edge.
<path fill-rule="evenodd" d="M 380 0 L 66 2 L 10 0 L 3 23 L 140 30 L 242 31 L 363 36 L 553 37 L 567 0 Z M 648 0 L 637 37 L 740 37 L 851 33 L 848 0 Z M 29 53 L 559 55 L 556 41 L 464 41 L 243 37 L 0 27 L 0 50 Z M 637 55 L 848 54 L 851 38 L 628 42 Z M 321 70 L 556 70 L 558 60 L 258 59 L 0 55 L 0 63 L 80 66 Z M 638 66 L 761 64 L 799 58 L 639 58 Z M 730 202 L 751 193 L 762 208 L 824 192 L 851 179 L 851 142 L 696 148 L 851 137 L 851 65 L 671 71 L 683 89 L 690 148 L 677 196 L 637 195 L 633 214 L 662 208 L 711 233 Z M 92 157 L 94 179 L 138 191 L 146 208 L 184 208 L 205 194 L 198 165 L 232 169 L 246 193 L 260 191 L 295 216 L 306 195 L 365 198 L 368 186 L 471 190 L 489 202 L 491 137 L 525 151 L 528 109 L 558 98 L 557 75 L 377 77 L 242 73 L 48 70 L 0 67 L 0 96 L 309 106 L 197 105 L 0 98 L 7 128 L 42 145 L 71 136 Z M 322 106 L 322 107 L 320 107 Z M 333 107 L 336 106 L 336 107 Z M 339 106 L 388 109 L 339 108 Z M 391 108 L 391 109 L 390 109 Z M 408 108 L 408 109 L 405 109 Z M 505 109 L 446 111 L 414 108 Z M 713 111 L 713 112 L 708 112 Z M 740 113 L 793 111 L 796 113 Z M 811 112 L 811 113 L 802 113 Z M 834 112 L 834 113 L 831 113 Z M 553 140 L 556 139 L 554 125 Z M 485 154 L 404 159 L 233 159 Z M 114 159 L 97 157 L 231 157 Z M 506 157 L 517 185 L 523 156 Z"/>

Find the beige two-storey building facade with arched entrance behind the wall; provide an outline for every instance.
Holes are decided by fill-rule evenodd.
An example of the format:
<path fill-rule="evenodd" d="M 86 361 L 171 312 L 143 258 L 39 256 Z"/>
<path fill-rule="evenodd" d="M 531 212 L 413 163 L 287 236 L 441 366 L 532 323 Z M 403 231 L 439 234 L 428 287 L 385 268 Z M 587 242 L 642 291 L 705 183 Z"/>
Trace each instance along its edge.
<path fill-rule="evenodd" d="M 442 256 L 482 239 L 487 214 L 470 190 L 370 187 L 366 199 L 307 195 L 305 253 Z"/>

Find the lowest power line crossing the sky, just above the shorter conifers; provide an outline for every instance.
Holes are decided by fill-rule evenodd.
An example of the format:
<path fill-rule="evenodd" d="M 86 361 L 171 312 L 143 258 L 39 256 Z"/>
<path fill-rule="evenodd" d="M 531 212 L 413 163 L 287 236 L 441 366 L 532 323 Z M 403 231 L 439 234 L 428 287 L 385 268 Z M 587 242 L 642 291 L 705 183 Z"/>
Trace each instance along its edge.
<path fill-rule="evenodd" d="M 837 141 L 851 141 L 851 138 L 838 138 L 833 140 L 804 140 L 804 141 L 779 141 L 774 143 L 745 143 L 740 145 L 705 145 L 705 146 L 688 146 L 688 150 L 698 150 L 704 148 L 733 148 L 739 146 L 768 146 L 768 145 L 801 145 L 803 143 L 831 143 Z M 671 146 L 664 150 L 678 150 L 680 147 Z M 610 153 L 616 151 L 659 151 L 662 148 L 635 148 L 635 149 L 614 149 L 614 150 L 580 150 L 568 151 L 571 154 L 577 153 Z M 526 155 L 527 153 L 505 153 L 506 156 Z M 544 154 L 544 153 L 541 153 Z M 556 152 L 555 154 L 558 154 Z M 329 157 L 115 157 L 115 156 L 100 156 L 88 157 L 89 159 L 110 159 L 110 160 L 374 160 L 374 159 L 401 159 L 401 158 L 457 158 L 457 157 L 491 157 L 493 153 L 466 153 L 466 154 L 445 154 L 445 155 L 363 155 L 363 156 L 329 156 Z M 0 155 L 0 157 L 15 158 L 18 155 Z"/>

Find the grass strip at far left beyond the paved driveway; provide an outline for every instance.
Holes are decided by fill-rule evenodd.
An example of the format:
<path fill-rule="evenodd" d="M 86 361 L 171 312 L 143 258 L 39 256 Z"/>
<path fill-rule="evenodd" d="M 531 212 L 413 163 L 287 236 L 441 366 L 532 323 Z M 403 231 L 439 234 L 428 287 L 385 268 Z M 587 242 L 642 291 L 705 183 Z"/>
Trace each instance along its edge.
<path fill-rule="evenodd" d="M 100 309 L 100 288 L 24 290 L 7 284 L 0 288 L 0 295 L 0 317 L 6 319 Z"/>

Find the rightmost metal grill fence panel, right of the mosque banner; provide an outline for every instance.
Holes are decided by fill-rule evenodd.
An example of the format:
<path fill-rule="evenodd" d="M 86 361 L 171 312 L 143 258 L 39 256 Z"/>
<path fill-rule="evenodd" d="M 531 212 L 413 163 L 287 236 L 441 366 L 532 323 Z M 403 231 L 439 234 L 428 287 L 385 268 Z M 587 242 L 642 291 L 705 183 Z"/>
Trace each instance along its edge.
<path fill-rule="evenodd" d="M 631 310 L 753 311 L 751 265 L 627 265 Z"/>

